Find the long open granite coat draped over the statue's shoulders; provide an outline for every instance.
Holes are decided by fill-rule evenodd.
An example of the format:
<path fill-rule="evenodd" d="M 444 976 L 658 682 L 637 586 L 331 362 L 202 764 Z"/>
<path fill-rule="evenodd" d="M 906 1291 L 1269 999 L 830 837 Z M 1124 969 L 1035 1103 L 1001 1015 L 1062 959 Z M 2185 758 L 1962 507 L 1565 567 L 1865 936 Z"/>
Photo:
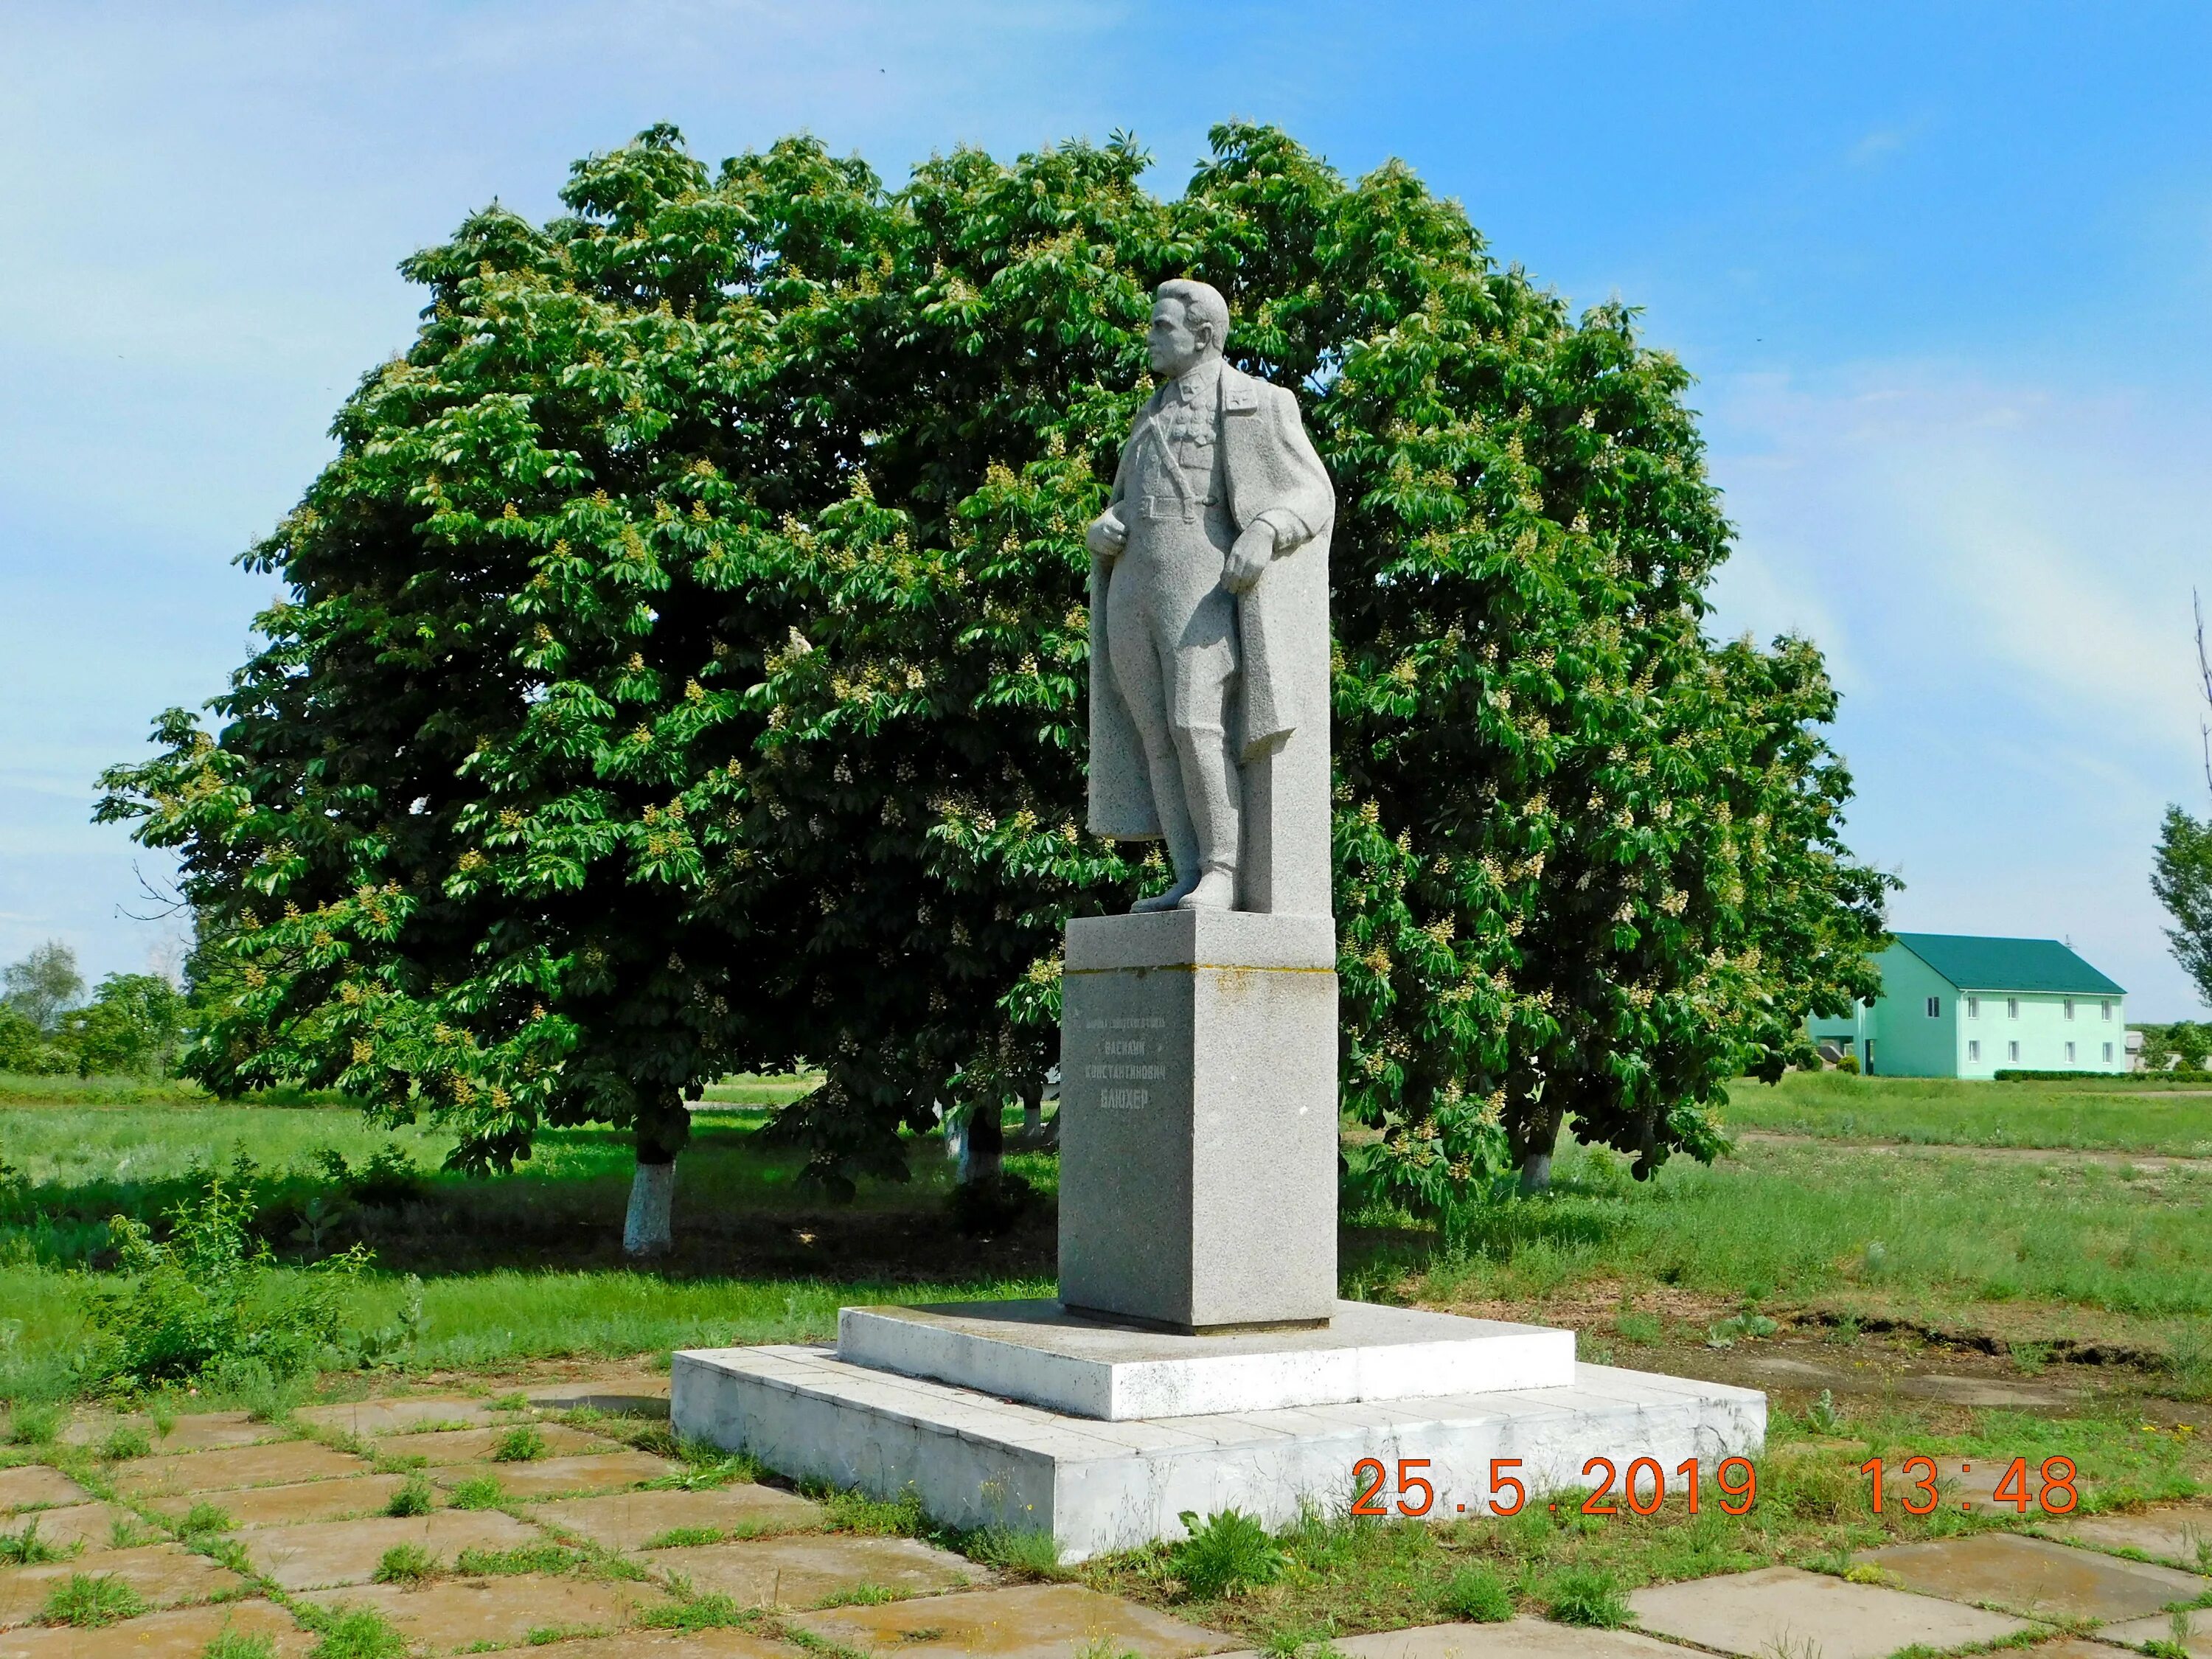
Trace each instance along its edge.
<path fill-rule="evenodd" d="M 1170 387 L 1139 411 L 1157 414 Z M 1298 400 L 1228 363 L 1221 365 L 1214 442 L 1234 533 L 1265 518 L 1276 555 L 1237 597 L 1239 754 L 1245 763 L 1279 748 L 1303 721 L 1329 719 L 1329 529 L 1336 491 L 1298 420 Z M 1110 511 L 1124 511 L 1130 447 L 1121 447 Z M 1121 555 L 1124 560 L 1128 553 Z M 1119 560 L 1091 560 L 1091 832 L 1113 841 L 1159 836 L 1144 743 L 1115 684 L 1106 650 L 1106 595 Z"/>

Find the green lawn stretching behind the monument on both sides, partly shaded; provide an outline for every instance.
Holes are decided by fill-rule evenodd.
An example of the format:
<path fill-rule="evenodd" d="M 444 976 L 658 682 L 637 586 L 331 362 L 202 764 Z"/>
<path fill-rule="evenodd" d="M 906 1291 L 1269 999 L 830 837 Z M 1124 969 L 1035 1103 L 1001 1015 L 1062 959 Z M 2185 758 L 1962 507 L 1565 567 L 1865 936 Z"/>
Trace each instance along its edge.
<path fill-rule="evenodd" d="M 1480 1206 L 1442 1230 L 1347 1217 L 1345 1287 L 1601 1334 L 1617 1310 L 1670 1307 L 1677 1336 L 1701 1336 L 1705 1321 L 1754 1307 L 2059 1352 L 2104 1343 L 2166 1365 L 2172 1389 L 2205 1391 L 2212 1164 L 2137 1170 L 1840 1139 L 1907 1139 L 1913 1128 L 2020 1144 L 2035 1110 L 2053 1121 L 2099 1115 L 2106 1146 L 2163 1148 L 2188 1135 L 2174 1115 L 2203 1108 L 2188 1097 L 2068 1097 L 2053 1084 L 1741 1084 L 1736 1126 L 1816 1124 L 1825 1139 L 1752 1139 L 1714 1168 L 1674 1159 L 1650 1183 L 1630 1181 L 1608 1152 L 1566 1148 L 1544 1199 Z M 914 1141 L 911 1179 L 867 1183 L 834 1206 L 803 1186 L 794 1152 L 759 1137 L 768 1117 L 734 1104 L 695 1115 L 679 1250 L 635 1272 L 619 1252 L 630 1155 L 611 1130 L 551 1130 L 515 1175 L 471 1181 L 438 1172 L 442 1133 L 372 1130 L 349 1108 L 84 1095 L 0 1106 L 0 1164 L 20 1172 L 0 1199 L 0 1394 L 58 1385 L 86 1336 L 84 1292 L 111 1261 L 108 1217 L 159 1219 L 210 1166 L 250 1177 L 257 1230 L 281 1256 L 356 1241 L 374 1250 L 361 1329 L 396 1325 L 420 1294 L 414 1365 L 827 1338 L 841 1303 L 1051 1292 L 1048 1203 L 1000 1237 L 960 1232 L 931 1137 Z M 358 1168 L 387 1146 L 416 1166 L 418 1188 L 389 1203 L 345 1201 L 321 1152 Z M 1051 1157 L 1009 1164 L 1048 1199 Z"/>

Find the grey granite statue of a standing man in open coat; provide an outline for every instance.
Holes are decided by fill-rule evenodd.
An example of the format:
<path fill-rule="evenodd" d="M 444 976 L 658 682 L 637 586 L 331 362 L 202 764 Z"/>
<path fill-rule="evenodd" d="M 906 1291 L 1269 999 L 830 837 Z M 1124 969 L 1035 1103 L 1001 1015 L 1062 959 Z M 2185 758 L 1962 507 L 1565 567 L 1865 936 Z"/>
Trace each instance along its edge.
<path fill-rule="evenodd" d="M 1221 358 L 1230 310 L 1161 283 L 1159 389 L 1091 524 L 1091 827 L 1166 838 L 1146 909 L 1329 911 L 1329 526 L 1296 398 Z"/>

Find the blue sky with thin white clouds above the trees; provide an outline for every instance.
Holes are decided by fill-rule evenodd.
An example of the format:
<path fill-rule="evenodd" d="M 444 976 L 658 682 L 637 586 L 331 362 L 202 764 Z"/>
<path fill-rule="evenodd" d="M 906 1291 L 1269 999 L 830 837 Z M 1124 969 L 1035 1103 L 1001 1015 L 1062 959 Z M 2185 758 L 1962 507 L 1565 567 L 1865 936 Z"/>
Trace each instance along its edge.
<path fill-rule="evenodd" d="M 243 659 L 230 557 L 405 347 L 400 257 L 677 122 L 891 179 L 1223 117 L 1405 157 L 1500 259 L 1699 374 L 1714 628 L 1809 633 L 1905 929 L 2070 938 L 2197 1015 L 2148 891 L 2205 805 L 2212 11 L 2197 4 L 35 4 L 0 15 L 0 960 L 173 949 L 88 818 Z"/>

